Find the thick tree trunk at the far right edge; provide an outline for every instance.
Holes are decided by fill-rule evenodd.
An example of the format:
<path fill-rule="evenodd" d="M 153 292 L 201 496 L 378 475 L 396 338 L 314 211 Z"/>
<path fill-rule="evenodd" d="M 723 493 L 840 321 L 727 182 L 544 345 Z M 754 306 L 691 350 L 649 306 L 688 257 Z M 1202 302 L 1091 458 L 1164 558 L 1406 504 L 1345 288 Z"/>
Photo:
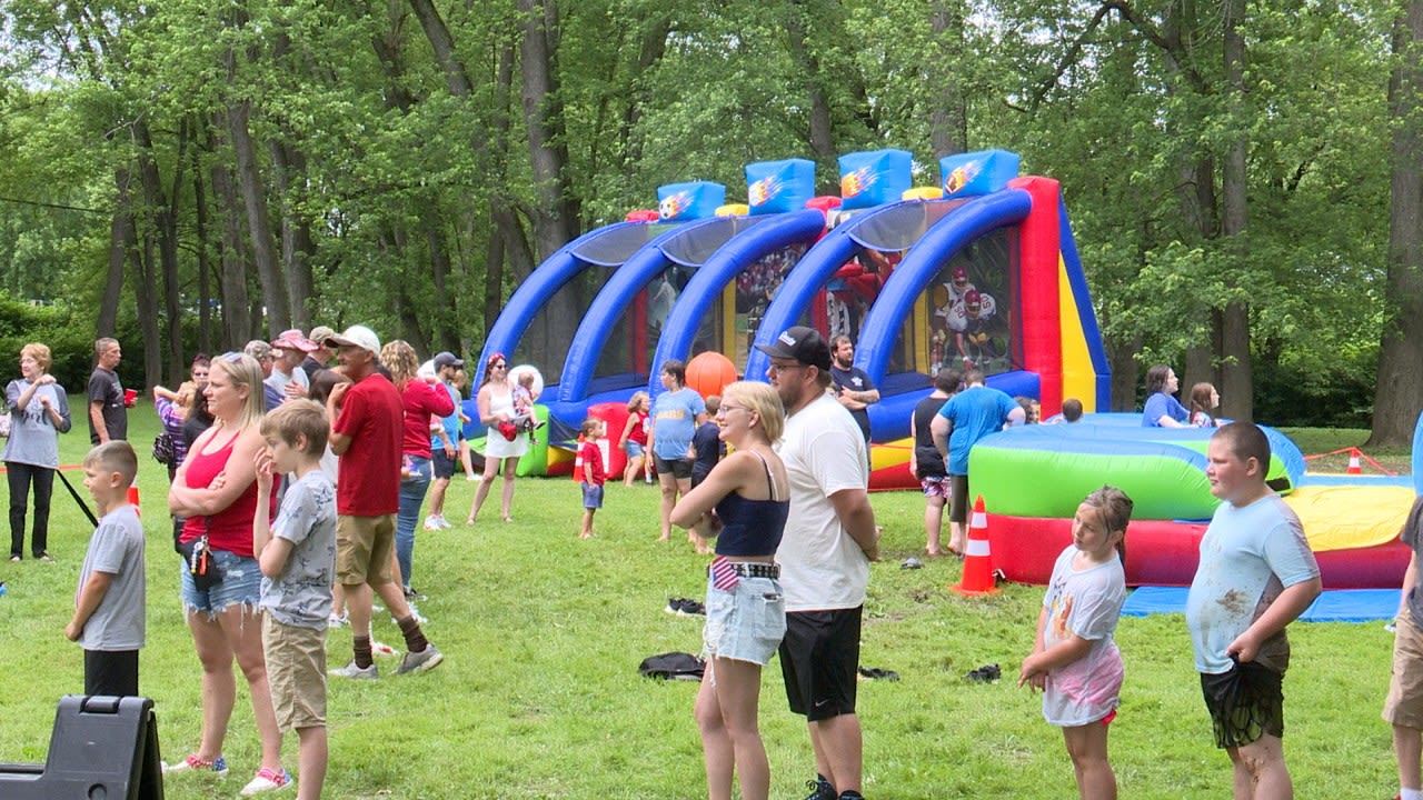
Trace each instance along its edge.
<path fill-rule="evenodd" d="M 1387 307 L 1369 436 L 1376 447 L 1409 444 L 1423 409 L 1423 1 L 1412 0 L 1395 20 L 1393 54 Z"/>

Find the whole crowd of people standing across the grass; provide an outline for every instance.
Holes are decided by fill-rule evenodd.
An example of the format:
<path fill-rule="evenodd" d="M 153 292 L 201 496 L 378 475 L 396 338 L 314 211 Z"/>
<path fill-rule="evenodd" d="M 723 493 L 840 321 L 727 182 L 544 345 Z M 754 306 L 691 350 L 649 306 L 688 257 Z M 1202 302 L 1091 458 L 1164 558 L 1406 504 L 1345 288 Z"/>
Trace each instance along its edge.
<path fill-rule="evenodd" d="M 848 340 L 831 343 L 795 326 L 760 349 L 770 359 L 766 383 L 736 381 L 707 400 L 686 387 L 680 362 L 663 364 L 666 391 L 650 403 L 645 393 L 629 400 L 618 437 L 628 456 L 623 483 L 650 480 L 650 456 L 662 485 L 660 537 L 669 540 L 670 528 L 680 527 L 699 551 L 714 554 L 703 629 L 707 666 L 693 709 L 709 797 L 729 800 L 737 786 L 747 800 L 768 796 L 757 717 L 761 670 L 778 655 L 788 706 L 805 717 L 814 753 L 817 774 L 807 783 L 807 800 L 861 800 L 857 672 L 869 564 L 879 559 L 881 535 L 868 498 L 862 411 L 879 397 L 868 376 L 848 369 Z M 65 636 L 84 649 L 87 693 L 137 695 L 145 575 L 142 527 L 128 498 L 138 471 L 125 441 L 125 406 L 134 394 L 117 376 L 120 344 L 101 339 L 94 354 L 94 447 L 83 468 L 98 518 Z M 50 559 L 46 525 L 57 437 L 71 426 L 68 399 L 48 374 L 50 363 L 47 347 L 26 344 L 21 377 L 6 389 L 3 460 L 14 561 L 24 557 L 31 491 L 30 554 Z M 381 346 L 373 330 L 357 325 L 340 335 L 313 329 L 310 337 L 287 330 L 243 352 L 198 356 L 176 390 L 154 387 L 168 437 L 164 447 L 155 443 L 154 454 L 169 460 L 168 510 L 182 554 L 178 594 L 202 668 L 201 739 L 191 754 L 165 767 L 168 773 L 228 772 L 223 742 L 236 705 L 236 665 L 260 739 L 260 763 L 242 794 L 296 783 L 297 797 L 319 797 L 327 762 L 327 676 L 379 678 L 376 595 L 404 638 L 396 672 L 418 673 L 443 662 L 423 632 L 411 577 L 427 493 L 434 494 L 424 528 L 448 527 L 444 490 L 467 448 L 462 367 L 453 353 L 421 364 L 407 342 Z M 501 473 L 501 517 L 511 521 L 515 468 L 536 426 L 531 381 L 508 373 L 508 359 L 494 353 L 475 393 L 487 444 L 471 524 Z M 1265 484 L 1264 433 L 1251 423 L 1215 420 L 1220 396 L 1210 384 L 1191 391 L 1190 409 L 1181 406 L 1170 367 L 1153 367 L 1147 386 L 1144 426 L 1215 428 L 1207 478 L 1222 502 L 1201 541 L 1185 615 L 1215 742 L 1231 760 L 1237 797 L 1289 797 L 1281 743 L 1285 628 L 1319 594 L 1318 564 L 1299 520 Z M 968 549 L 973 444 L 1035 417 L 1032 404 L 988 387 L 978 370 L 935 376 L 911 420 L 911 470 L 925 495 L 929 555 Z M 1080 417 L 1079 401 L 1063 403 L 1063 421 Z M 599 447 L 605 438 L 602 420 L 583 423 L 576 473 L 583 538 L 593 535 L 609 477 Z M 468 461 L 465 474 L 477 474 Z M 948 547 L 939 534 L 945 505 Z M 1043 693 L 1046 722 L 1063 730 L 1081 797 L 1117 793 L 1107 732 L 1126 679 L 1113 632 L 1126 599 L 1131 510 L 1131 500 L 1113 487 L 1081 501 L 1019 670 L 1020 686 Z M 1423 800 L 1423 628 L 1413 623 L 1423 619 L 1423 500 L 1403 541 L 1414 557 L 1405 578 L 1385 719 L 1395 730 L 1400 797 Z M 326 632 L 340 621 L 351 626 L 351 660 L 327 670 Z M 282 764 L 289 730 L 299 739 L 299 781 Z"/>

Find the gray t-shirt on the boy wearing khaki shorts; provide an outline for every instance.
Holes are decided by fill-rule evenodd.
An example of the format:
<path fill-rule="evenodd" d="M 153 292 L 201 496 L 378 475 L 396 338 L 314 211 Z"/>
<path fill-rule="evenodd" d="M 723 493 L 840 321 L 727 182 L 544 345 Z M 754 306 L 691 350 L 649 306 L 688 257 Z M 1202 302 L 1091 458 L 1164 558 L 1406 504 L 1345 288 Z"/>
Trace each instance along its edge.
<path fill-rule="evenodd" d="M 286 487 L 272 535 L 292 542 L 277 578 L 262 578 L 262 609 L 283 625 L 324 629 L 336 578 L 336 487 L 312 470 Z"/>

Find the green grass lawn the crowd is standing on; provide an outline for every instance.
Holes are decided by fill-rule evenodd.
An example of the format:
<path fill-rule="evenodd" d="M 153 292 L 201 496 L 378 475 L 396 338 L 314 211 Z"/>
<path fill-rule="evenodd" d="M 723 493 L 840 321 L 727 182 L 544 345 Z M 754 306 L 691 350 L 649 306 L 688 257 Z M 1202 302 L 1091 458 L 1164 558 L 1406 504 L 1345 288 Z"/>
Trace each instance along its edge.
<path fill-rule="evenodd" d="M 148 648 L 142 686 L 157 702 L 164 756 L 196 746 L 199 668 L 178 602 L 178 559 L 162 498 L 166 477 L 147 456 L 157 433 L 151 409 L 132 413 L 139 443 L 148 549 Z M 64 461 L 85 448 L 64 437 Z M 455 480 L 448 515 L 462 520 L 475 484 Z M 83 491 L 83 488 L 80 490 Z M 57 487 L 51 531 L 55 564 L 0 564 L 0 760 L 43 762 L 54 709 L 83 688 L 78 648 L 64 641 L 88 530 Z M 666 651 L 697 652 L 700 622 L 662 614 L 669 596 L 700 596 L 704 559 L 684 542 L 657 544 L 656 491 L 609 485 L 599 537 L 579 542 L 572 481 L 521 480 L 517 522 L 497 508 L 477 528 L 421 531 L 416 585 L 425 628 L 447 660 L 434 672 L 396 678 L 380 659 L 376 683 L 330 686 L 332 769 L 327 797 L 704 797 L 692 720 L 692 683 L 638 676 L 638 663 Z M 871 800 L 1074 796 L 1062 736 L 1043 723 L 1039 699 L 1016 689 L 1033 641 L 1040 586 L 1005 586 L 962 599 L 945 591 L 959 564 L 921 552 L 922 500 L 884 493 L 872 502 L 885 527 L 885 562 L 867 602 L 862 663 L 898 670 L 899 682 L 859 689 L 865 729 L 865 793 Z M 1123 619 L 1127 662 L 1111 760 L 1124 797 L 1218 799 L 1229 767 L 1210 739 L 1181 616 Z M 398 643 L 388 618 L 376 636 Z M 1379 719 L 1392 636 L 1380 623 L 1295 625 L 1286 679 L 1286 753 L 1302 797 L 1392 796 L 1389 729 Z M 350 631 L 330 635 L 332 665 L 350 653 Z M 976 685 L 963 673 L 998 662 L 1005 680 Z M 803 797 L 814 774 L 804 723 L 785 710 L 778 665 L 767 670 L 761 725 L 773 797 Z M 243 683 L 239 680 L 239 686 Z M 295 766 L 296 740 L 285 743 Z M 245 686 L 228 744 L 232 774 L 169 780 L 174 800 L 233 797 L 256 769 L 258 746 Z"/>

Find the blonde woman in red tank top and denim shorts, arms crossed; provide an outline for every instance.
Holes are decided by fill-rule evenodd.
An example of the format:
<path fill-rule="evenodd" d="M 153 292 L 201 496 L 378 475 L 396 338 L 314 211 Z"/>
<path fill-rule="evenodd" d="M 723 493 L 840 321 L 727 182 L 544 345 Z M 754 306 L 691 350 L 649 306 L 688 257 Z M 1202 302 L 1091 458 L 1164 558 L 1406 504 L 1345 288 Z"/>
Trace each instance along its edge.
<path fill-rule="evenodd" d="M 262 366 L 242 353 L 218 356 L 212 360 L 205 394 L 215 421 L 194 440 L 188 458 L 178 467 L 168 491 L 168 510 L 188 518 L 179 541 L 208 534 L 223 579 L 201 591 L 186 567 L 182 569 L 188 629 L 202 662 L 202 742 L 186 760 L 166 770 L 226 770 L 222 742 L 236 702 L 232 673 L 236 659 L 248 679 L 262 736 L 259 767 L 270 770 L 270 774 L 283 774 L 282 735 L 272 710 L 258 616 L 262 571 L 252 558 L 252 517 L 256 512 L 253 458 L 265 447 L 258 430 L 265 410 Z M 272 511 L 268 508 L 268 515 Z"/>

